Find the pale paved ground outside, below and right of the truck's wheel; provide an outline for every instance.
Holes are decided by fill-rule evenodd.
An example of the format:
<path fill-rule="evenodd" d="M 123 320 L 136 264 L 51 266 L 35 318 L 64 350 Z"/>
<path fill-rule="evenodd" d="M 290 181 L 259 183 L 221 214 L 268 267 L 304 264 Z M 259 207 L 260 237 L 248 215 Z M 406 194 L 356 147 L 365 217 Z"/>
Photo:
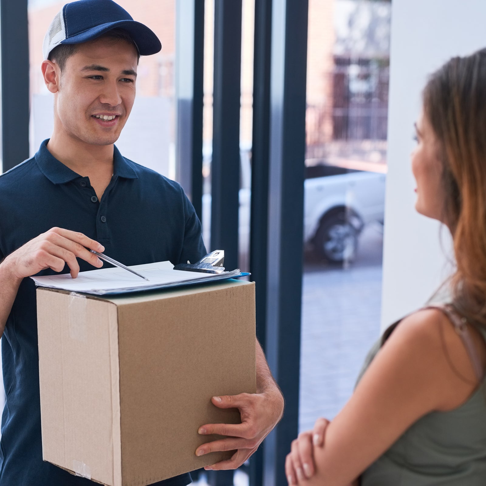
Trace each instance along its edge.
<path fill-rule="evenodd" d="M 299 428 L 333 418 L 352 393 L 380 332 L 382 232 L 364 229 L 356 261 L 336 269 L 306 259 L 302 291 Z"/>

